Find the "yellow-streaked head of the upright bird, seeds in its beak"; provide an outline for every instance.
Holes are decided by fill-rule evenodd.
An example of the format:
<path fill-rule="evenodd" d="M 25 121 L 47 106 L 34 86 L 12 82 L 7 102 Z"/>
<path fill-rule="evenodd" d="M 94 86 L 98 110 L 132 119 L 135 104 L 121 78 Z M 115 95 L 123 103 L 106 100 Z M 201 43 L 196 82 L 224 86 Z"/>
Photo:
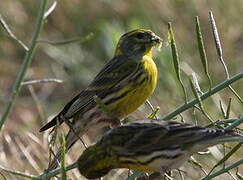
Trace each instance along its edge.
<path fill-rule="evenodd" d="M 152 55 L 152 48 L 161 44 L 161 38 L 152 31 L 137 29 L 127 32 L 120 38 L 115 54 L 127 56 Z"/>

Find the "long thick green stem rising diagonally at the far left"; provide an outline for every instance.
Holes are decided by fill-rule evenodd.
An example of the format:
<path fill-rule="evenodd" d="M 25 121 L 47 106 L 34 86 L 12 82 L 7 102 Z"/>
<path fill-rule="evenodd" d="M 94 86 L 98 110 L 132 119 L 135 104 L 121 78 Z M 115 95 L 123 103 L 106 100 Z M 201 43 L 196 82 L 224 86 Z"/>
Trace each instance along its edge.
<path fill-rule="evenodd" d="M 34 52 L 35 52 L 35 49 L 37 46 L 37 39 L 40 35 L 41 29 L 43 26 L 43 17 L 45 14 L 46 4 L 47 4 L 47 0 L 41 1 L 40 10 L 39 10 L 38 18 L 37 18 L 37 24 L 36 24 L 36 28 L 35 28 L 35 31 L 34 31 L 34 34 L 33 34 L 32 40 L 31 40 L 29 51 L 26 51 L 26 53 L 25 53 L 24 61 L 20 67 L 20 71 L 18 72 L 17 78 L 13 85 L 12 95 L 10 97 L 8 104 L 6 105 L 6 108 L 3 111 L 3 116 L 0 120 L 0 130 L 2 129 L 2 126 L 5 123 L 7 117 L 12 109 L 12 106 L 15 103 L 15 100 L 21 89 L 21 83 L 25 77 L 26 71 L 27 71 L 27 69 L 31 63 L 32 57 L 34 55 Z"/>

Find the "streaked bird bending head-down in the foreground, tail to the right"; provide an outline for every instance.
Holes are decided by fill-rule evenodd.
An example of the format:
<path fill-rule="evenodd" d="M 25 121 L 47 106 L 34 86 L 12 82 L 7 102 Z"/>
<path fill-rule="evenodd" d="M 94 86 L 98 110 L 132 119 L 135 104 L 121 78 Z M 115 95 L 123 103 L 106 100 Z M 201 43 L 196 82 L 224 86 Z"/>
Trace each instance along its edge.
<path fill-rule="evenodd" d="M 115 168 L 163 174 L 180 167 L 193 153 L 231 141 L 243 142 L 243 136 L 175 121 L 140 120 L 108 131 L 82 153 L 78 169 L 88 179 Z"/>

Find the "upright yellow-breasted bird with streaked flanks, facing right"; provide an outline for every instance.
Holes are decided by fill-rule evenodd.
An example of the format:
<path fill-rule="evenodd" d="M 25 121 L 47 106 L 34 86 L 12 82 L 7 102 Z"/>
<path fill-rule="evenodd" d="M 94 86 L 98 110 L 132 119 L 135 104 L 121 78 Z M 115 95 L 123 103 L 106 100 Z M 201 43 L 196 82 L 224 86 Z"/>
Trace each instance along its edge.
<path fill-rule="evenodd" d="M 69 122 L 72 129 L 66 137 L 66 149 L 70 149 L 79 139 L 78 135 L 82 136 L 89 129 L 119 125 L 120 119 L 134 112 L 153 93 L 157 68 L 152 59 L 152 48 L 161 43 L 160 37 L 145 29 L 121 36 L 114 57 L 40 132 L 72 119 Z M 97 103 L 94 97 L 100 102 Z M 105 108 L 101 108 L 102 105 Z M 58 159 L 60 151 L 50 163 L 49 170 L 57 167 Z"/>

